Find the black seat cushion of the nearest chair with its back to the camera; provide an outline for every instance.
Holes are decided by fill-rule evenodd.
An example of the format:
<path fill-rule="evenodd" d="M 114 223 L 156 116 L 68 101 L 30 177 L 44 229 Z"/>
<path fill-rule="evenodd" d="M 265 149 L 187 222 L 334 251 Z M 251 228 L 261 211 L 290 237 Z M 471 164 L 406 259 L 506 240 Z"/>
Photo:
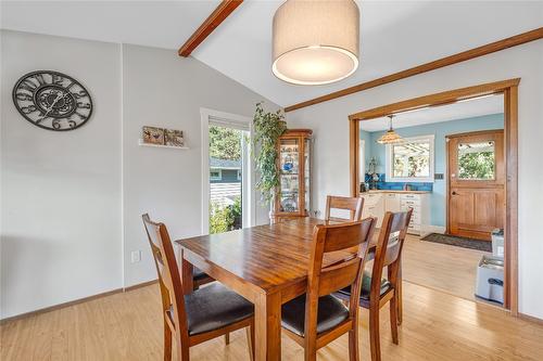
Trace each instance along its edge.
<path fill-rule="evenodd" d="M 282 305 L 281 325 L 304 336 L 305 325 L 305 294 Z M 317 334 L 331 330 L 349 318 L 349 310 L 333 296 L 324 296 L 318 299 Z"/>

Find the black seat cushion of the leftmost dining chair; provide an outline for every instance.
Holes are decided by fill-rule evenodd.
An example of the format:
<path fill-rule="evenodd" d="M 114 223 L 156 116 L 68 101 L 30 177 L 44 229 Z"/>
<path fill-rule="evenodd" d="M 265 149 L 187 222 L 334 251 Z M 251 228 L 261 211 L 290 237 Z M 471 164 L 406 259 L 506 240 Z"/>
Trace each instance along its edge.
<path fill-rule="evenodd" d="M 185 296 L 189 335 L 222 328 L 254 314 L 254 306 L 218 282 Z"/>

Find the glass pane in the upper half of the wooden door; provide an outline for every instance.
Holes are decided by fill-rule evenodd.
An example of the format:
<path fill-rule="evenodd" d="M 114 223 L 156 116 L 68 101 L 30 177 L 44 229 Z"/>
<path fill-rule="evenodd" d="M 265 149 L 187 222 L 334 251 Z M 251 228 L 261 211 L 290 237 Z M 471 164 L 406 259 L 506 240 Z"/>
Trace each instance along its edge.
<path fill-rule="evenodd" d="M 458 144 L 458 178 L 468 180 L 495 179 L 494 142 Z"/>

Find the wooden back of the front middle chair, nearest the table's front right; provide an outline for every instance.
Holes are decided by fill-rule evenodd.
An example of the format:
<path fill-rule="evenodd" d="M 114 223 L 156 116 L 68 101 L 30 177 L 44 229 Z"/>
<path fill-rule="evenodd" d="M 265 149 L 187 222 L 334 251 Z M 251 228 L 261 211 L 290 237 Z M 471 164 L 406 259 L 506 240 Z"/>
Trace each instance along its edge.
<path fill-rule="evenodd" d="M 316 335 L 318 297 L 351 286 L 350 314 L 358 311 L 364 261 L 376 224 L 375 218 L 338 224 L 319 224 L 313 232 L 307 275 L 305 335 Z M 345 252 L 342 261 L 323 268 L 327 253 Z M 354 256 L 354 257 L 353 257 Z"/>

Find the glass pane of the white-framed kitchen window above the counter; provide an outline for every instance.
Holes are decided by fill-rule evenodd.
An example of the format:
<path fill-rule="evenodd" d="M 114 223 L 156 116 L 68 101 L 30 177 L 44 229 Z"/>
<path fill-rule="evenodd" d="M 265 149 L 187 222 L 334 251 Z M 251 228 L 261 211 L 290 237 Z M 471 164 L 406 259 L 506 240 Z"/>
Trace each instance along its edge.
<path fill-rule="evenodd" d="M 391 146 L 394 178 L 430 177 L 430 141 L 406 141 Z"/>

